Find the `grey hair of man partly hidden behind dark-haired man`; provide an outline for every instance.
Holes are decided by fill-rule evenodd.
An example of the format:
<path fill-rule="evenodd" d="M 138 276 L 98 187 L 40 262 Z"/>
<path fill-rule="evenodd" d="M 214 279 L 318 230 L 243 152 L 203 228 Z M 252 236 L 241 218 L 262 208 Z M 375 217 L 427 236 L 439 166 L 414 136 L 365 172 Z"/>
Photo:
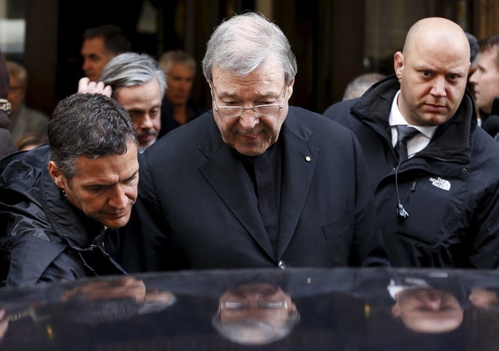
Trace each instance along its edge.
<path fill-rule="evenodd" d="M 166 78 L 158 62 L 146 53 L 121 53 L 107 62 L 99 80 L 112 87 L 114 97 L 121 87 L 136 87 L 154 78 L 163 96 Z"/>

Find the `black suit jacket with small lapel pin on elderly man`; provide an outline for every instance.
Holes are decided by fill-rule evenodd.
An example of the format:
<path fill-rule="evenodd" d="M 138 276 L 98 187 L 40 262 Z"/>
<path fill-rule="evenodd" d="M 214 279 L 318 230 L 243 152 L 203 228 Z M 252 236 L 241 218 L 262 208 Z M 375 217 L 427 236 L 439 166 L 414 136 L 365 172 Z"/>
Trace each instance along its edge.
<path fill-rule="evenodd" d="M 277 254 L 243 164 L 209 111 L 139 156 L 139 198 L 130 222 L 137 231 L 123 237 L 125 269 L 386 264 L 356 137 L 319 114 L 290 107 L 279 138 Z"/>

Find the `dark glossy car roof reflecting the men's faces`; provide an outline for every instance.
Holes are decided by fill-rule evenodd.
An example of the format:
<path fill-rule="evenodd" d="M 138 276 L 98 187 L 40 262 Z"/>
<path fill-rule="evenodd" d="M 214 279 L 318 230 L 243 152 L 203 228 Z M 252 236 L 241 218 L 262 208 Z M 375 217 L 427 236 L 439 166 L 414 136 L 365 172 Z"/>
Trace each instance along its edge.
<path fill-rule="evenodd" d="M 496 271 L 374 268 L 179 271 L 3 287 L 0 350 L 496 350 L 498 287 Z M 265 300 L 274 293 L 284 303 Z"/>

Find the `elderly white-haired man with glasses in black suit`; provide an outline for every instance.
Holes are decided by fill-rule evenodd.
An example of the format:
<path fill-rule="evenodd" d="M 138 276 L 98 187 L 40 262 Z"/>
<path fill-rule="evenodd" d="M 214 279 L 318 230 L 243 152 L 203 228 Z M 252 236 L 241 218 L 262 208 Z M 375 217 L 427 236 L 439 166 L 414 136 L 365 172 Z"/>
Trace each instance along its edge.
<path fill-rule="evenodd" d="M 139 156 L 121 242 L 129 271 L 387 265 L 360 145 L 290 107 L 297 64 L 282 30 L 223 21 L 202 61 L 213 109 Z"/>

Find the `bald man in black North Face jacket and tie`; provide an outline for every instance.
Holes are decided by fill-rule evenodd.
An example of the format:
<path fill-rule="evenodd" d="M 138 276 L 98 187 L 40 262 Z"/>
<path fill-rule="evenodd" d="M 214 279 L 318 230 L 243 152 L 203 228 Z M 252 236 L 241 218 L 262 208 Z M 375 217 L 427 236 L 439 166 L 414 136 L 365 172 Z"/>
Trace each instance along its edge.
<path fill-rule="evenodd" d="M 499 147 L 477 127 L 469 67 L 462 28 L 421 19 L 394 55 L 394 75 L 324 111 L 362 144 L 393 267 L 499 265 Z M 408 157 L 395 147 L 399 126 L 417 129 L 399 143 Z"/>

